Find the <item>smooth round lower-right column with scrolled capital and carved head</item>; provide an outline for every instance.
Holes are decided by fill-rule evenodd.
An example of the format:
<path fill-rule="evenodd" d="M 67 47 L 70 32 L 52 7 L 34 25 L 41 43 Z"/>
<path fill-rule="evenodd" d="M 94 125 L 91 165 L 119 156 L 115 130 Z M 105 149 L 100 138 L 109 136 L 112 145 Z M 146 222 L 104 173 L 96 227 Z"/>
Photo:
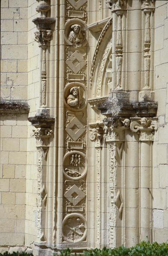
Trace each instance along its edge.
<path fill-rule="evenodd" d="M 154 140 L 154 130 L 157 129 L 157 119 L 146 117 L 132 118 L 131 131 L 140 135 L 140 239 L 151 241 L 152 234 L 152 142 Z"/>

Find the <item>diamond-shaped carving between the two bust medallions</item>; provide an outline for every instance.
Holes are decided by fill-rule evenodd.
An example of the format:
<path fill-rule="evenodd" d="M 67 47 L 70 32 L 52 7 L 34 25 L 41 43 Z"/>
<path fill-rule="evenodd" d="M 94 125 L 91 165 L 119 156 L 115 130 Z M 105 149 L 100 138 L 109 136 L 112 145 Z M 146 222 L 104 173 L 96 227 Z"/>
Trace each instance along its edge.
<path fill-rule="evenodd" d="M 86 61 L 83 60 L 83 54 L 81 52 L 75 51 L 71 55 L 71 60 L 65 61 L 65 63 L 77 74 L 85 66 Z"/>

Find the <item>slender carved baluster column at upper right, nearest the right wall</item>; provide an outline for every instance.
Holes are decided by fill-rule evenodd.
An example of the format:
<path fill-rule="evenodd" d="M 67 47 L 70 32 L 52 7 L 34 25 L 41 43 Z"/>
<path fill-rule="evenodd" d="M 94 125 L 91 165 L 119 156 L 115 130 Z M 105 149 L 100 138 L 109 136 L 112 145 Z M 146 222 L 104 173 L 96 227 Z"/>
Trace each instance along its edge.
<path fill-rule="evenodd" d="M 151 63 L 151 26 L 152 26 L 152 19 L 151 13 L 154 12 L 154 4 L 155 0 L 142 0 L 142 11 L 143 11 L 143 44 L 144 44 L 144 59 L 143 59 L 143 79 L 142 79 L 142 92 L 140 92 L 140 100 L 148 99 L 154 100 L 154 92 L 151 90 L 152 82 L 150 81 L 152 74 L 151 70 L 153 69 L 153 65 Z"/>

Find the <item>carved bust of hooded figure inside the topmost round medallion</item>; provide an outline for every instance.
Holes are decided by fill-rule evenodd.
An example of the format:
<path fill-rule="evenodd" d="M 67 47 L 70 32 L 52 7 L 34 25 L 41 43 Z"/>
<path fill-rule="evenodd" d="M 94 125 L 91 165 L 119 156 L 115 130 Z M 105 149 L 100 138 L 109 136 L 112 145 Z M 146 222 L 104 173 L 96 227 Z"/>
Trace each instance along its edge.
<path fill-rule="evenodd" d="M 84 40 L 84 31 L 82 30 L 81 26 L 78 24 L 74 24 L 71 26 L 71 31 L 68 35 L 68 40 L 72 44 L 81 44 Z"/>

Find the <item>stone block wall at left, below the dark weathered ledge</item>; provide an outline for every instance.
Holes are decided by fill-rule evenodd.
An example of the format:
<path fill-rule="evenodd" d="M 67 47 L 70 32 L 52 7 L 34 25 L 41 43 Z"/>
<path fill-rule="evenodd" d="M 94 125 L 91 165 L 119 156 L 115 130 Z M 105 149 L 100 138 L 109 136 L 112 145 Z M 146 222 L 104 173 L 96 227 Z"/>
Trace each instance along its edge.
<path fill-rule="evenodd" d="M 27 117 L 1 114 L 0 247 L 24 245 Z"/>

